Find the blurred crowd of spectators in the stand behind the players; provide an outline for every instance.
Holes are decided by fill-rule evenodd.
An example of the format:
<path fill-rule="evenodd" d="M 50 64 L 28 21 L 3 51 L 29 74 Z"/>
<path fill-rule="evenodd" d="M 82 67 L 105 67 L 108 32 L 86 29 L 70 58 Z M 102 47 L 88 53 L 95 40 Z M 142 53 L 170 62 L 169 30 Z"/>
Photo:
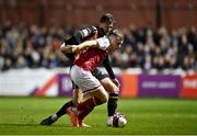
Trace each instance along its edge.
<path fill-rule="evenodd" d="M 59 50 L 63 38 L 79 29 L 38 27 L 24 24 L 0 24 L 0 69 L 61 68 L 70 66 L 69 59 Z M 143 70 L 177 69 L 197 71 L 197 30 L 181 27 L 167 30 L 162 26 L 121 29 L 125 41 L 119 50 L 111 55 L 112 66 L 121 69 Z"/>

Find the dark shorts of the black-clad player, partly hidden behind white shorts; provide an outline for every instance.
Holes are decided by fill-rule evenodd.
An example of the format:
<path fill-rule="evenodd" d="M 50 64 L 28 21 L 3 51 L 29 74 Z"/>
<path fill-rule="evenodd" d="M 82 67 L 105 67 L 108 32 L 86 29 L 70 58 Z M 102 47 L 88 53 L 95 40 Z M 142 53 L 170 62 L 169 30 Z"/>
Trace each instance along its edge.
<path fill-rule="evenodd" d="M 107 78 L 107 76 L 105 73 L 103 73 L 100 69 L 94 69 L 94 71 L 92 71 L 92 75 L 97 79 L 97 80 L 102 80 L 104 78 Z M 72 81 L 72 87 L 73 89 L 79 89 L 79 87 L 77 84 L 74 84 L 74 82 Z"/>

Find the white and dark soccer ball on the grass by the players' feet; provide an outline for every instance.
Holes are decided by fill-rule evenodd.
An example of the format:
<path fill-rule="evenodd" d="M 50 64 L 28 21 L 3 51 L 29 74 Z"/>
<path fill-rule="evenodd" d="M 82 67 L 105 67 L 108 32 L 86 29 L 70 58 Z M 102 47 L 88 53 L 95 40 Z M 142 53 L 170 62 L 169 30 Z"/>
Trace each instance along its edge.
<path fill-rule="evenodd" d="M 127 124 L 127 118 L 121 113 L 115 113 L 113 116 L 113 126 L 114 127 L 125 127 Z"/>

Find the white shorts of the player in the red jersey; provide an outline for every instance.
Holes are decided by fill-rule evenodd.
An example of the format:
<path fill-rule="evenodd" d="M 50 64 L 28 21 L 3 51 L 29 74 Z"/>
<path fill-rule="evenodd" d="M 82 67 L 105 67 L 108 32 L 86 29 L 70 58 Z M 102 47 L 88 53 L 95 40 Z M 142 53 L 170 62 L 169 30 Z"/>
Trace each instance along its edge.
<path fill-rule="evenodd" d="M 83 93 L 94 90 L 101 86 L 101 82 L 83 68 L 74 65 L 70 69 L 70 78 L 83 91 Z"/>

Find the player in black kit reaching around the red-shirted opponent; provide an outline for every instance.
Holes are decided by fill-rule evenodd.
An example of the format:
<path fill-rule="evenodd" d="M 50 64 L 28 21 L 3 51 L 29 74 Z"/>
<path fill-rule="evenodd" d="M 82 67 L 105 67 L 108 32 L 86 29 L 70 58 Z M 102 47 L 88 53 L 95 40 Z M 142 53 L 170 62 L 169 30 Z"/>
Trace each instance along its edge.
<path fill-rule="evenodd" d="M 69 39 L 65 41 L 65 45 L 79 45 L 80 43 L 90 39 L 90 38 L 96 38 L 96 37 L 103 37 L 104 35 L 107 35 L 112 30 L 114 25 L 114 16 L 111 13 L 105 13 L 102 15 L 100 20 L 100 26 L 89 26 L 85 27 L 78 33 L 76 33 L 73 36 L 71 36 Z M 61 48 L 63 50 L 63 47 Z M 66 54 L 67 57 L 69 57 L 71 60 L 74 59 L 74 54 Z M 108 57 L 105 58 L 103 61 L 103 66 L 107 70 L 112 81 L 118 87 L 119 82 L 115 78 L 114 72 L 112 70 L 112 67 L 109 65 Z M 93 76 L 96 77 L 103 84 L 103 87 L 109 92 L 109 100 L 107 104 L 107 112 L 108 112 L 108 121 L 112 118 L 112 116 L 115 113 L 115 110 L 117 107 L 117 100 L 118 100 L 118 89 L 117 87 L 112 83 L 111 79 L 108 79 L 101 70 L 97 68 L 92 71 Z M 67 109 L 69 106 L 74 105 L 76 103 L 80 102 L 80 91 L 76 87 L 74 89 L 74 102 L 70 101 L 67 102 L 56 114 L 43 120 L 40 122 L 42 125 L 50 125 L 54 122 L 56 122 L 60 116 L 65 115 L 67 112 Z"/>

